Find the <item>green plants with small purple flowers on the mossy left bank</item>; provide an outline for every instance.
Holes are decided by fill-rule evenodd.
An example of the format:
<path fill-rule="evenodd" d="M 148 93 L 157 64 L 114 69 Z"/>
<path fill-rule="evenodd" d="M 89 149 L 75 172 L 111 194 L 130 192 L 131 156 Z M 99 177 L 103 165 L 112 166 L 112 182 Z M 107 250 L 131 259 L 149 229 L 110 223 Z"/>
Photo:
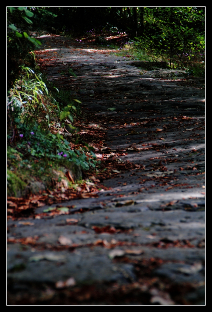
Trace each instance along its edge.
<path fill-rule="evenodd" d="M 61 99 L 58 88 L 52 89 Z M 7 97 L 10 194 L 16 195 L 25 188 L 26 183 L 22 182 L 28 181 L 29 176 L 51 185 L 53 169 L 61 165 L 68 167 L 74 163 L 83 170 L 95 167 L 96 155 L 89 148 L 78 146 L 74 150 L 63 135 L 50 131 L 50 117 L 56 114 L 57 109 L 61 122 L 68 118 L 70 130 L 75 130 L 72 122 L 75 117 L 73 112 L 76 113 L 77 108 L 73 101 L 76 105 L 81 103 L 69 96 L 69 105 L 63 107 L 48 90 L 41 73 L 36 74 L 31 68 L 21 67 L 20 79 L 16 80 Z"/>

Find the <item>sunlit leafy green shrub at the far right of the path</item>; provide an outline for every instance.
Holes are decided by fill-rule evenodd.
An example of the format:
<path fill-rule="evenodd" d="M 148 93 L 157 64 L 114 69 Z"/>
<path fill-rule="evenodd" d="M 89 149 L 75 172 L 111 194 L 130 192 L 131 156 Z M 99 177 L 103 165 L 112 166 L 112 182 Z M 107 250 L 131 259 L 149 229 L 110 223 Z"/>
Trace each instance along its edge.
<path fill-rule="evenodd" d="M 134 46 L 153 61 L 186 67 L 205 51 L 205 15 L 196 7 L 144 8 L 144 34 Z"/>

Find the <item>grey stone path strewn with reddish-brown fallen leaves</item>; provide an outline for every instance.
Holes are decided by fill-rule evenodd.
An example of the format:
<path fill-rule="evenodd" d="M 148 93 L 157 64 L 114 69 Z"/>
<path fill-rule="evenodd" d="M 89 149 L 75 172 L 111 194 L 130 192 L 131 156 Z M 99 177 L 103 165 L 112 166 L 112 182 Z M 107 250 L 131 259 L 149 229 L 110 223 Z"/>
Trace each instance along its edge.
<path fill-rule="evenodd" d="M 96 153 L 108 166 L 116 161 L 117 172 L 98 174 L 111 189 L 97 198 L 63 203 L 74 206 L 72 216 L 49 214 L 33 226 L 8 221 L 8 301 L 204 305 L 204 80 L 139 69 L 62 36 L 43 40 L 40 66 L 59 89 L 80 96 L 90 129 L 106 139 Z M 132 169 L 120 171 L 127 161 Z"/>

